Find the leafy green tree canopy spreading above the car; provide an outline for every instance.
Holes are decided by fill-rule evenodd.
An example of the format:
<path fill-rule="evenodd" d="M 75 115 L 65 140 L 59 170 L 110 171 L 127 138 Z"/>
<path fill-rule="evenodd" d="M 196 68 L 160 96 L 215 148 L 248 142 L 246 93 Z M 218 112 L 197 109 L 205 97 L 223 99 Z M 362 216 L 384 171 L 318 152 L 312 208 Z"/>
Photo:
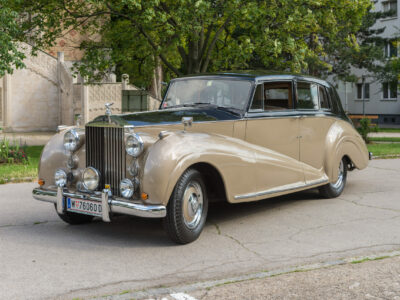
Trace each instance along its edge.
<path fill-rule="evenodd" d="M 370 7 L 370 0 L 0 1 L 25 16 L 19 27 L 43 33 L 29 36 L 35 45 L 51 46 L 71 27 L 99 34 L 81 44 L 79 72 L 96 79 L 116 67 L 145 87 L 160 64 L 167 79 L 255 65 L 332 70 L 334 49 L 358 48 L 356 33 Z"/>

